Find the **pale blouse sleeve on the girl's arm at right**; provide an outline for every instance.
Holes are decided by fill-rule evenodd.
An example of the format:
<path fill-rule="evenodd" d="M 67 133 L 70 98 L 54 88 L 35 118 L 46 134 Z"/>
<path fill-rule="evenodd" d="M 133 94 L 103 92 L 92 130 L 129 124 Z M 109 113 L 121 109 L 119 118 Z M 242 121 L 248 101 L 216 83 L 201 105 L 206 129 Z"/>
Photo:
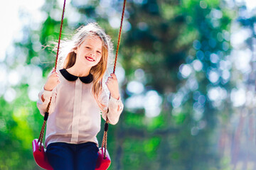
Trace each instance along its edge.
<path fill-rule="evenodd" d="M 112 96 L 107 96 L 106 93 L 102 94 L 102 103 L 106 106 L 104 111 L 102 111 L 102 118 L 106 120 L 108 118 L 110 124 L 117 124 L 119 117 L 123 111 L 124 104 L 121 101 L 121 97 L 117 100 L 116 98 L 112 98 Z M 109 108 L 109 112 L 107 113 L 107 106 Z"/>

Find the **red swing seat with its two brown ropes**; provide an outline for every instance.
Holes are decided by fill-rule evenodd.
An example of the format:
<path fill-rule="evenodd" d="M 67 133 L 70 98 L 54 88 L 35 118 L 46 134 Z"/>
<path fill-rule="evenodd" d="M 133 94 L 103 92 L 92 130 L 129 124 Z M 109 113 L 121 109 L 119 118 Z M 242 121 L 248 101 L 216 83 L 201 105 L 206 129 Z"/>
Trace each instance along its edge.
<path fill-rule="evenodd" d="M 126 4 L 126 0 L 124 0 L 124 5 L 123 5 L 123 9 L 122 9 L 122 18 L 121 18 L 121 24 L 120 24 L 120 28 L 119 28 L 119 35 L 118 35 L 118 41 L 117 41 L 117 51 L 116 51 L 115 60 L 114 60 L 113 73 L 115 72 L 115 67 L 116 67 L 116 64 L 117 64 L 117 54 L 118 54 L 119 42 L 120 42 L 120 38 L 121 38 L 121 30 L 122 30 L 122 22 L 123 22 L 123 18 L 124 18 L 125 4 Z M 63 27 L 64 11 L 65 11 L 65 0 L 64 0 L 64 4 L 63 4 L 63 13 L 62 13 L 62 18 L 61 18 L 61 23 L 60 23 L 60 35 L 59 35 L 59 38 L 58 38 L 58 48 L 57 48 L 57 55 L 56 55 L 55 69 L 54 70 L 56 70 L 56 67 L 57 67 L 58 51 L 59 51 L 59 47 L 60 47 L 60 37 L 61 37 L 61 31 L 62 31 L 62 27 Z M 47 170 L 53 170 L 53 167 L 50 166 L 50 164 L 48 162 L 48 159 L 46 157 L 46 149 L 43 147 L 43 135 L 44 135 L 44 131 L 46 129 L 46 121 L 48 120 L 51 99 L 52 98 L 50 97 L 50 101 L 48 103 L 48 106 L 46 108 L 46 113 L 45 113 L 44 118 L 43 118 L 43 126 L 41 128 L 40 135 L 39 135 L 38 139 L 35 139 L 32 142 L 33 157 L 36 161 L 36 164 L 38 164 L 38 166 L 40 166 L 41 168 L 47 169 Z M 107 109 L 107 113 L 108 113 L 108 111 L 109 110 Z M 98 152 L 99 156 L 97 158 L 97 163 L 96 163 L 95 170 L 108 169 L 108 167 L 111 164 L 110 155 L 107 152 L 107 130 L 108 130 L 108 118 L 106 118 L 105 127 L 104 127 L 104 135 L 103 135 L 103 138 L 102 138 L 102 147 L 99 148 L 99 152 Z"/>

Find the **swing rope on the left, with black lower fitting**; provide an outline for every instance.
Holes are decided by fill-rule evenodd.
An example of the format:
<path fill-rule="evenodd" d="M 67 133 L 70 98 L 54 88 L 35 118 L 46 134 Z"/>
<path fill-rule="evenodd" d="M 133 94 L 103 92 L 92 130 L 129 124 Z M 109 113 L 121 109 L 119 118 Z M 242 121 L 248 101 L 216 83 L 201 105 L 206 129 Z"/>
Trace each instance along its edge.
<path fill-rule="evenodd" d="M 60 34 L 59 34 L 59 38 L 58 38 L 58 47 L 57 47 L 57 54 L 56 54 L 56 60 L 55 60 L 55 67 L 54 67 L 54 70 L 53 70 L 54 72 L 56 71 L 57 62 L 58 62 L 58 53 L 59 53 L 59 49 L 60 49 L 60 38 L 61 38 L 61 32 L 62 32 L 62 28 L 63 28 L 64 12 L 65 12 L 65 0 L 64 0 L 64 4 L 63 4 L 63 13 L 62 13 L 61 23 L 60 23 Z M 39 147 L 40 151 L 41 151 L 41 146 L 42 146 L 42 142 L 43 142 L 43 134 L 46 130 L 46 121 L 48 120 L 51 99 L 52 99 L 52 97 L 50 97 L 50 101 L 49 101 L 48 106 L 46 108 L 46 113 L 45 113 L 44 118 L 43 118 L 43 126 L 41 128 L 41 132 L 40 132 L 40 135 L 38 137 L 38 142 L 40 143 L 40 147 Z"/>

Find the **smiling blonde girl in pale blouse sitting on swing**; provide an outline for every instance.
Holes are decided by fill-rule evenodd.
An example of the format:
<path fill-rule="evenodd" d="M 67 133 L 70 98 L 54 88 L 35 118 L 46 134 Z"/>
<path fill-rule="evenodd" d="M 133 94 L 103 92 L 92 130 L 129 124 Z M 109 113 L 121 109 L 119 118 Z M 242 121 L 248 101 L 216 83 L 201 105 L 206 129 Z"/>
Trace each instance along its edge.
<path fill-rule="evenodd" d="M 44 115 L 52 97 L 46 155 L 53 169 L 95 169 L 100 111 L 102 118 L 114 125 L 123 108 L 115 74 L 110 74 L 105 83 L 110 100 L 102 88 L 111 55 L 110 38 L 95 23 L 78 28 L 73 40 L 62 42 L 58 61 L 61 69 L 49 75 L 37 103 Z"/>

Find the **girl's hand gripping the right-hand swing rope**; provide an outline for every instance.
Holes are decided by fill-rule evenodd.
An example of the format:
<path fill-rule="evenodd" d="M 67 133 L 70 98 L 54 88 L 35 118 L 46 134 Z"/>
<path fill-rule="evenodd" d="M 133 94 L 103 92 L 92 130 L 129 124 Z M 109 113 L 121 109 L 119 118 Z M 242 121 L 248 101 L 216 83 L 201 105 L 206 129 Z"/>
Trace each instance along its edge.
<path fill-rule="evenodd" d="M 107 89 L 109 89 L 110 94 L 113 98 L 119 99 L 119 86 L 117 77 L 114 73 L 110 74 L 110 77 L 107 78 Z"/>

